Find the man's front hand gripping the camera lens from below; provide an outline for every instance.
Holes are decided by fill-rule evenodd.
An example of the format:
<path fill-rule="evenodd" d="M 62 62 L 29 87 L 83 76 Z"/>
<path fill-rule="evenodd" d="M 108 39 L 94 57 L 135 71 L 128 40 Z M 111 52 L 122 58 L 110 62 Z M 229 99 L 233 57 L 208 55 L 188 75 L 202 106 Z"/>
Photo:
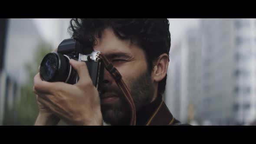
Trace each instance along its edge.
<path fill-rule="evenodd" d="M 45 82 L 38 73 L 34 78 L 37 100 L 67 124 L 102 125 L 100 98 L 85 62 L 71 59 L 70 64 L 79 75 L 78 83 L 69 85 L 64 82 Z"/>

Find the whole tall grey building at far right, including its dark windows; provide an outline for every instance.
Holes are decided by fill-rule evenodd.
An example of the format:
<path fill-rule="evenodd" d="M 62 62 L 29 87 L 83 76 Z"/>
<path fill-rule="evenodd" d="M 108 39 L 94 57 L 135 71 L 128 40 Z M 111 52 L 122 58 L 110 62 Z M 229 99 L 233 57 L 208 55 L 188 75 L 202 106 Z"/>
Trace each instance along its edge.
<path fill-rule="evenodd" d="M 209 104 L 201 118 L 251 123 L 256 118 L 256 20 L 203 19 L 200 28 L 203 95 Z"/>

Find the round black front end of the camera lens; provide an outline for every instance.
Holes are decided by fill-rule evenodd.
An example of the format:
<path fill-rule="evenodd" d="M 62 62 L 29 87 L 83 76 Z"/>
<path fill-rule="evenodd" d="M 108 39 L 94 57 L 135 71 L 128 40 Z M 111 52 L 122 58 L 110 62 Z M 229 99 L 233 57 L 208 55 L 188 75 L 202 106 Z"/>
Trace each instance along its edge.
<path fill-rule="evenodd" d="M 66 82 L 70 72 L 69 59 L 60 53 L 47 54 L 40 65 L 41 79 L 47 82 Z"/>

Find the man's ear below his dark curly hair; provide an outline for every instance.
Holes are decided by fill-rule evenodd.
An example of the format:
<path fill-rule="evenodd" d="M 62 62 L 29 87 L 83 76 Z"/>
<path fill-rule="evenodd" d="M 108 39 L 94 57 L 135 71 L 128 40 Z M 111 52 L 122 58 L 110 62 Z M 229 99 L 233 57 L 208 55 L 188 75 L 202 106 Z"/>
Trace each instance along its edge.
<path fill-rule="evenodd" d="M 152 78 L 154 82 L 160 82 L 164 79 L 169 64 L 169 56 L 166 53 L 161 54 L 153 63 Z"/>

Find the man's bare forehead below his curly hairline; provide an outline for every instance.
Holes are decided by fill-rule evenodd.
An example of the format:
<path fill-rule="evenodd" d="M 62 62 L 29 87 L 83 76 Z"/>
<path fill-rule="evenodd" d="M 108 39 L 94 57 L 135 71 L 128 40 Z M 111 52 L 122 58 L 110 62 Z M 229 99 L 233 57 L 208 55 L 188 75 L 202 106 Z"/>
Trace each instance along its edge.
<path fill-rule="evenodd" d="M 96 38 L 97 44 L 94 46 L 94 50 L 100 51 L 105 55 L 124 52 L 133 54 L 137 51 L 142 51 L 138 46 L 132 44 L 130 40 L 119 39 L 112 29 L 107 28 L 102 32 L 100 39 Z"/>

